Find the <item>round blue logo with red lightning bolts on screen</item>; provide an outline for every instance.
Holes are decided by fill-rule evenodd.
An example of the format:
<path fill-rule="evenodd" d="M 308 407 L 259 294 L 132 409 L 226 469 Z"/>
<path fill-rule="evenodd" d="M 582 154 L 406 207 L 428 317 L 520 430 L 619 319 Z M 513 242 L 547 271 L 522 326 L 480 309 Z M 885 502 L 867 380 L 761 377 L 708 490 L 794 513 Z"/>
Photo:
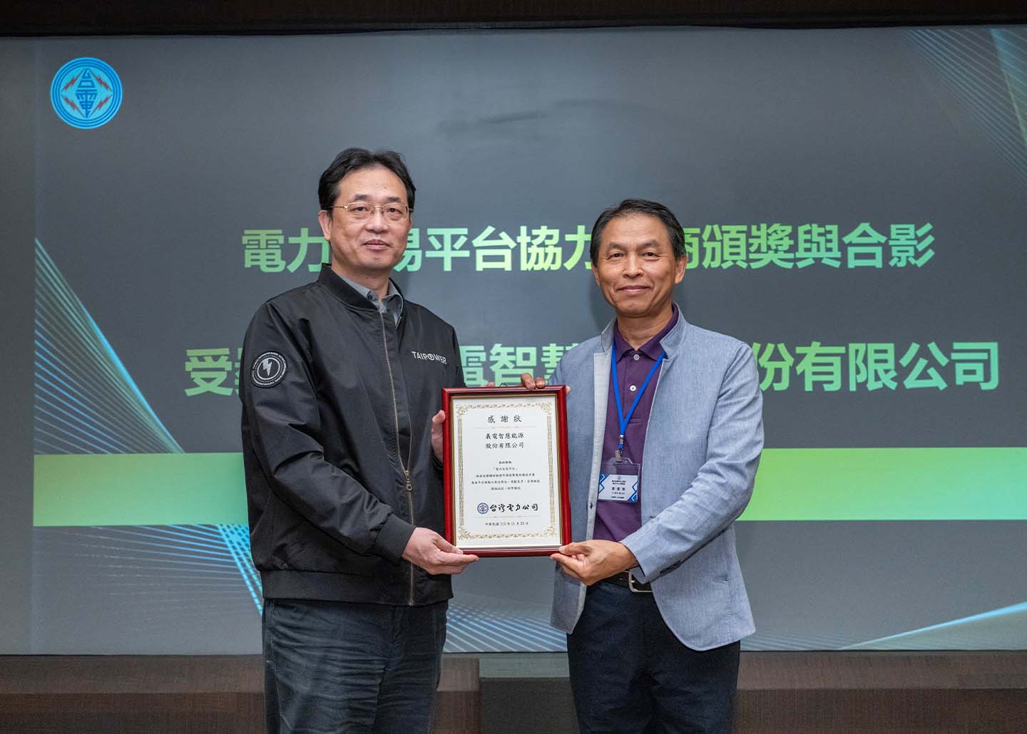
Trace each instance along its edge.
<path fill-rule="evenodd" d="M 50 104 L 72 127 L 100 127 L 118 114 L 121 80 L 109 64 L 99 59 L 73 59 L 53 76 Z"/>

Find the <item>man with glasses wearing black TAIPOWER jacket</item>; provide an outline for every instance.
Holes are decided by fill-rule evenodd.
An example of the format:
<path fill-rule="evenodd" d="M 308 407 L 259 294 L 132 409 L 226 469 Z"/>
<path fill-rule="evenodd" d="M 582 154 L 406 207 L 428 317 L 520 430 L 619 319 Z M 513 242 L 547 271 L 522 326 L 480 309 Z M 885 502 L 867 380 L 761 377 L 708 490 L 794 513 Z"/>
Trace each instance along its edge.
<path fill-rule="evenodd" d="M 321 175 L 331 266 L 246 332 L 242 456 L 264 587 L 269 732 L 428 732 L 450 575 L 477 556 L 440 535 L 443 387 L 453 327 L 389 279 L 414 183 L 392 151 Z"/>

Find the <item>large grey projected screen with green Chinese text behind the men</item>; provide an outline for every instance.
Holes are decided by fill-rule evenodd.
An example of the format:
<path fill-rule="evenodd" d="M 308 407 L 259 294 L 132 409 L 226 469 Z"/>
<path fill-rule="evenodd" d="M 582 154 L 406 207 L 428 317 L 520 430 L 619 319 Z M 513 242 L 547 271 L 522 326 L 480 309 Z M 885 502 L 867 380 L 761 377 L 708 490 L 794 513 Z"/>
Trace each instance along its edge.
<path fill-rule="evenodd" d="M 470 385 L 547 375 L 610 319 L 602 208 L 677 214 L 676 300 L 752 344 L 764 391 L 748 649 L 1027 646 L 1023 28 L 0 47 L 34 187 L 4 211 L 31 238 L 3 243 L 35 261 L 34 289 L 11 271 L 34 393 L 8 398 L 34 407 L 9 426 L 33 435 L 31 541 L 5 551 L 31 557 L 28 651 L 259 649 L 239 348 L 327 259 L 317 177 L 348 146 L 405 154 L 395 280 L 455 325 Z M 9 506 L 28 490 L 8 478 Z M 447 649 L 563 649 L 551 567 L 471 567 Z"/>

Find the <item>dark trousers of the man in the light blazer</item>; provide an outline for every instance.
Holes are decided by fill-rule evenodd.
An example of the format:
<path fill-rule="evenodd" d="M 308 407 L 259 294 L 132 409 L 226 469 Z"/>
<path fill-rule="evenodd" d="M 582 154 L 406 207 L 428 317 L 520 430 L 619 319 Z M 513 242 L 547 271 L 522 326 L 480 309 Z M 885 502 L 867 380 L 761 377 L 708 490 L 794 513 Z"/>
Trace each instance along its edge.
<path fill-rule="evenodd" d="M 581 734 L 728 734 L 740 647 L 692 650 L 651 593 L 600 581 L 567 635 Z"/>

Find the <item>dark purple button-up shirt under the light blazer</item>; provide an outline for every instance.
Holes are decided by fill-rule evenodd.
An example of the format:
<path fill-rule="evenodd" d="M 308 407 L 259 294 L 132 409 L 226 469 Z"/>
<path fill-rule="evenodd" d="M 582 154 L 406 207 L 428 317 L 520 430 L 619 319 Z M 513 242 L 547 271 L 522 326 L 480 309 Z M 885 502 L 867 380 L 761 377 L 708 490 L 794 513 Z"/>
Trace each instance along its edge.
<path fill-rule="evenodd" d="M 604 464 L 613 459 L 620 438 L 620 422 L 617 419 L 615 400 L 620 400 L 621 410 L 626 416 L 638 391 L 642 389 L 646 375 L 659 359 L 659 355 L 663 353 L 663 347 L 659 345 L 659 340 L 670 334 L 677 322 L 678 307 L 675 305 L 671 320 L 659 334 L 643 344 L 641 349 L 632 349 L 632 346 L 620 336 L 620 331 L 616 325 L 613 326 L 613 353 L 617 356 L 617 384 L 620 387 L 620 395 L 615 395 L 613 392 L 611 376 L 610 393 L 606 399 L 606 430 L 603 433 Z M 624 429 L 624 448 L 621 455 L 639 466 L 642 465 L 642 451 L 645 448 L 645 430 L 649 425 L 649 413 L 652 411 L 652 396 L 656 393 L 656 380 L 659 378 L 659 371 L 662 366 L 663 364 L 660 362 L 660 365 L 656 368 L 645 392 L 639 398 L 639 404 L 635 407 L 635 413 L 627 421 L 627 428 Z M 594 538 L 620 541 L 642 527 L 642 492 L 645 491 L 645 476 L 642 476 L 641 479 L 638 502 L 601 500 L 596 503 Z"/>

